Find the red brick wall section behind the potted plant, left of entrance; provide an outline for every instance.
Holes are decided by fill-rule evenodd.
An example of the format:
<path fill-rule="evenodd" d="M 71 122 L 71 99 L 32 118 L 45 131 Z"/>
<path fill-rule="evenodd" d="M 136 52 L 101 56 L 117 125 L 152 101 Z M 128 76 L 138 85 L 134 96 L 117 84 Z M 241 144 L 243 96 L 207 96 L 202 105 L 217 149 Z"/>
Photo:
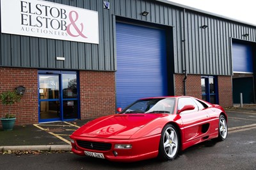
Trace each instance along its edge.
<path fill-rule="evenodd" d="M 38 123 L 37 70 L 0 67 L 0 77 L 0 93 L 14 90 L 17 86 L 26 88 L 20 102 L 12 107 L 12 113 L 16 116 L 15 125 Z M 8 112 L 8 108 L 0 102 L 0 117 Z"/>

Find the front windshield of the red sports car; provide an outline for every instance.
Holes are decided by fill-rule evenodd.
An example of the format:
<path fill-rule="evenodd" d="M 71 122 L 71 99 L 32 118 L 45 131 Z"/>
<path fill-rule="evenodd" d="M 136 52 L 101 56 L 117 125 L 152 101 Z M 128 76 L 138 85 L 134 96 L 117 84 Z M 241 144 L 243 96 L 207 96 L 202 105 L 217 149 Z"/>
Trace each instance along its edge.
<path fill-rule="evenodd" d="M 175 98 L 150 98 L 137 100 L 120 113 L 166 113 L 172 114 Z"/>

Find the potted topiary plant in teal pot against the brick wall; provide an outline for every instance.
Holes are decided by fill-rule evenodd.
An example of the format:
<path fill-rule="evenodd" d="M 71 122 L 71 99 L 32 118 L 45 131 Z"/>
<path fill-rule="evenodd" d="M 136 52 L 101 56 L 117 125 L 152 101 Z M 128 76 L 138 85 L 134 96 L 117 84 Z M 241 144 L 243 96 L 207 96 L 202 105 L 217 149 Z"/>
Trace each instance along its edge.
<path fill-rule="evenodd" d="M 4 91 L 0 95 L 0 100 L 3 105 L 8 105 L 8 113 L 1 118 L 3 130 L 12 130 L 15 124 L 15 115 L 12 114 L 12 105 L 20 102 L 21 95 L 18 95 L 16 91 Z"/>

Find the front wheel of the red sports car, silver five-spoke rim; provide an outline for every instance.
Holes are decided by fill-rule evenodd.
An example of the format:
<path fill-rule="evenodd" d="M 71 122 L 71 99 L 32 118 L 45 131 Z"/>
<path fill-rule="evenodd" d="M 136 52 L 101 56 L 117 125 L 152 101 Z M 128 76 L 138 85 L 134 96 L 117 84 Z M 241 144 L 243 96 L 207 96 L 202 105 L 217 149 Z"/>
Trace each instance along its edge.
<path fill-rule="evenodd" d="M 165 125 L 159 144 L 158 158 L 161 160 L 173 160 L 179 153 L 179 133 L 173 125 Z"/>

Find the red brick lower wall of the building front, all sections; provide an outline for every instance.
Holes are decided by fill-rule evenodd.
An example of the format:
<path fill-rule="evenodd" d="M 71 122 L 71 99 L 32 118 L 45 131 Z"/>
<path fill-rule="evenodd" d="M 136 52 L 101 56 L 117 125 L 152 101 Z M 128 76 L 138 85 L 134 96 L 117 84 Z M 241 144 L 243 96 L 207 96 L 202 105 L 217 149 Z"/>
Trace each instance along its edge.
<path fill-rule="evenodd" d="M 13 90 L 17 86 L 26 88 L 25 95 L 18 104 L 13 105 L 12 113 L 16 115 L 16 125 L 38 123 L 38 80 L 37 70 L 29 68 L 0 67 L 0 93 Z M 79 72 L 81 119 L 97 118 L 115 114 L 115 72 Z M 184 95 L 184 75 L 175 75 L 175 95 Z M 201 98 L 201 76 L 188 75 L 186 80 L 188 96 Z M 220 105 L 232 105 L 232 79 L 230 76 L 218 76 Z M 8 107 L 0 104 L 2 117 Z M 0 122 L 1 123 L 1 122 Z"/>

